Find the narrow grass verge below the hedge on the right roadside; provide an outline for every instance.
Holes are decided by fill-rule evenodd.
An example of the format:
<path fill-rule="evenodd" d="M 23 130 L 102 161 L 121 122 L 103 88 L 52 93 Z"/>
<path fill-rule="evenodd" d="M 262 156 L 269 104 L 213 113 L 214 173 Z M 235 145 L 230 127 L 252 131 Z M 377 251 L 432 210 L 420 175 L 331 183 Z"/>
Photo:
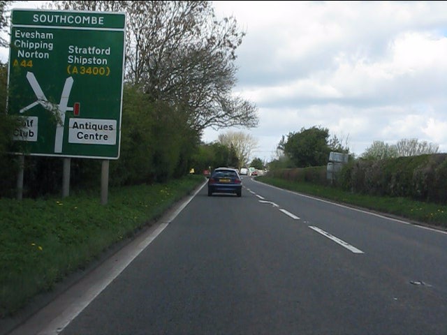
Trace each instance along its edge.
<path fill-rule="evenodd" d="M 258 177 L 258 181 L 290 191 L 314 195 L 356 207 L 372 209 L 393 216 L 400 216 L 415 223 L 447 228 L 447 207 L 441 204 L 419 202 L 407 198 L 379 197 L 343 191 L 339 188 L 320 186 L 304 182 L 293 182 L 280 178 Z"/>

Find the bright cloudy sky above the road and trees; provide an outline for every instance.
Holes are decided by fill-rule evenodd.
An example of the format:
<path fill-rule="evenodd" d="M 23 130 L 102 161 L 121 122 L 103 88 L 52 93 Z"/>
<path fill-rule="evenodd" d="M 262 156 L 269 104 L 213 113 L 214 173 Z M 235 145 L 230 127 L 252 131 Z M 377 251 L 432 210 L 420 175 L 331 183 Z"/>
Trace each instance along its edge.
<path fill-rule="evenodd" d="M 22 1 L 36 8 L 40 1 Z M 213 1 L 246 32 L 234 94 L 258 107 L 242 131 L 251 158 L 275 158 L 281 137 L 328 128 L 360 156 L 404 138 L 447 152 L 447 1 Z"/>

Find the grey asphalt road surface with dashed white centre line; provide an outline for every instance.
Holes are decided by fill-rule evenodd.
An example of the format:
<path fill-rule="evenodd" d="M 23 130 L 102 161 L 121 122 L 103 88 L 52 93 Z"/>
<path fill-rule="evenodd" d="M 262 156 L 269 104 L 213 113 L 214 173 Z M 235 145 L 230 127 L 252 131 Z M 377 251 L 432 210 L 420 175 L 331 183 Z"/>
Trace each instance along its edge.
<path fill-rule="evenodd" d="M 446 233 L 243 184 L 205 186 L 13 334 L 447 334 Z"/>

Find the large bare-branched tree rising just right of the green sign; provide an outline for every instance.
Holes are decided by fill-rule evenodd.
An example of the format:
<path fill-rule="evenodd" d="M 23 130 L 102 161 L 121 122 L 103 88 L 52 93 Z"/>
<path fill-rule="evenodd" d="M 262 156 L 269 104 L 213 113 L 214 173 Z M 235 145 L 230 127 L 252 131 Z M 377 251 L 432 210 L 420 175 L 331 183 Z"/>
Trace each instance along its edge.
<path fill-rule="evenodd" d="M 245 33 L 234 17 L 218 20 L 212 1 L 57 1 L 57 6 L 124 10 L 126 80 L 153 101 L 179 107 L 198 133 L 258 125 L 256 105 L 232 94 L 235 52 Z"/>

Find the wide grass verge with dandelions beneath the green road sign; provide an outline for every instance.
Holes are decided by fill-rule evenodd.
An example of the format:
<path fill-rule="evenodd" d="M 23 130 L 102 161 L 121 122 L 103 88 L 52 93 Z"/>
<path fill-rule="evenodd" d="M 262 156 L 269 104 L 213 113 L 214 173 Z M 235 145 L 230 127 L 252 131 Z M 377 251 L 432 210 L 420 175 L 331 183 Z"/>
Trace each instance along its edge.
<path fill-rule="evenodd" d="M 105 206 L 99 191 L 64 199 L 0 199 L 0 318 L 131 237 L 202 183 L 203 176 L 189 175 L 111 188 Z"/>

